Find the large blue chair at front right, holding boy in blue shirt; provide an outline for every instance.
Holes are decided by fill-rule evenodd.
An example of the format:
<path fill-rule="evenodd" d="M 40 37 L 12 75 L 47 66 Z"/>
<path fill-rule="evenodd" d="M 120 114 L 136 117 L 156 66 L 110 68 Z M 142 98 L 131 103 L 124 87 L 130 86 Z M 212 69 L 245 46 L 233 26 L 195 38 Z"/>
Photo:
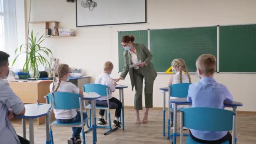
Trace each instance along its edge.
<path fill-rule="evenodd" d="M 235 112 L 210 107 L 192 107 L 181 110 L 181 128 L 183 126 L 200 131 L 231 131 L 235 129 Z M 182 138 L 181 138 L 182 140 Z M 186 144 L 201 144 L 190 136 Z M 225 141 L 221 144 L 229 144 Z M 232 144 L 235 144 L 234 131 L 232 131 Z"/>

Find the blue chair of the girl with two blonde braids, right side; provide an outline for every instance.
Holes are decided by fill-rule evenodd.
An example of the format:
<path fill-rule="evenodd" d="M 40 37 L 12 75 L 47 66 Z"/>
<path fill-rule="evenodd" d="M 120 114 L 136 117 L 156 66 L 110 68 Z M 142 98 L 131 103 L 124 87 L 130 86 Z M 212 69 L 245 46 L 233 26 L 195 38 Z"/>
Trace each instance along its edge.
<path fill-rule="evenodd" d="M 173 85 L 169 85 L 169 96 L 168 99 L 170 101 L 170 97 L 178 97 L 178 98 L 187 98 L 188 95 L 188 90 L 189 90 L 189 85 L 191 83 L 177 83 L 177 84 L 173 84 Z M 167 137 L 168 139 L 170 139 L 170 141 L 173 141 L 174 144 L 176 144 L 176 139 L 171 139 L 171 137 L 175 137 L 176 136 L 180 136 L 180 134 L 177 133 L 173 133 L 172 135 L 170 135 L 170 112 L 171 110 L 173 110 L 173 108 L 171 107 L 171 103 L 168 103 L 168 131 L 167 131 Z M 177 111 L 180 111 L 180 109 L 177 109 Z M 173 118 L 173 120 L 175 120 Z M 189 136 L 188 134 L 184 134 L 184 136 Z"/>

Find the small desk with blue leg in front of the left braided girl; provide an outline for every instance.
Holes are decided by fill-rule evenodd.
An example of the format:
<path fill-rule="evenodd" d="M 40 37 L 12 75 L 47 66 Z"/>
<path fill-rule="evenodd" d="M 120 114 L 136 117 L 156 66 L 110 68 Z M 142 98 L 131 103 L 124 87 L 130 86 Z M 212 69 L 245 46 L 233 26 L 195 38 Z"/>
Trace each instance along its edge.
<path fill-rule="evenodd" d="M 85 93 L 84 96 L 82 97 L 83 100 L 91 100 L 91 112 L 92 112 L 92 131 L 93 131 L 93 144 L 96 144 L 97 142 L 97 132 L 96 132 L 96 99 L 99 99 L 101 96 L 98 93 L 95 92 L 89 92 Z M 88 122 L 87 122 L 88 123 Z"/>

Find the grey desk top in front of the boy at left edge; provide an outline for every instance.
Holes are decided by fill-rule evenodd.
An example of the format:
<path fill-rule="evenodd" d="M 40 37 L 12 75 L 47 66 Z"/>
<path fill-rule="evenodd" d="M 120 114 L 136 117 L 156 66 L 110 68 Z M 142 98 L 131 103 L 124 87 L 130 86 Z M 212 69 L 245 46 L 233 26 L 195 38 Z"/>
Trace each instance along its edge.
<path fill-rule="evenodd" d="M 25 104 L 26 112 L 19 115 L 20 118 L 37 118 L 47 115 L 51 109 L 51 104 Z"/>

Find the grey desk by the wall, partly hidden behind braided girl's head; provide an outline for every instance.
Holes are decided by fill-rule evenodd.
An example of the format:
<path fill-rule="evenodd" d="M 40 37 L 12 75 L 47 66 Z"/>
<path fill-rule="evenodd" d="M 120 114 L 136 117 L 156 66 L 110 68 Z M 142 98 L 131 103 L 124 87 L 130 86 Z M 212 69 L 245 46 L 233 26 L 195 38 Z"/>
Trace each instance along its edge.
<path fill-rule="evenodd" d="M 49 77 L 41 77 L 38 80 L 48 80 Z M 83 76 L 83 77 L 70 77 L 70 80 L 68 82 L 73 83 L 75 86 L 80 88 L 80 90 L 83 90 L 83 85 L 90 83 L 90 77 L 89 76 Z"/>

